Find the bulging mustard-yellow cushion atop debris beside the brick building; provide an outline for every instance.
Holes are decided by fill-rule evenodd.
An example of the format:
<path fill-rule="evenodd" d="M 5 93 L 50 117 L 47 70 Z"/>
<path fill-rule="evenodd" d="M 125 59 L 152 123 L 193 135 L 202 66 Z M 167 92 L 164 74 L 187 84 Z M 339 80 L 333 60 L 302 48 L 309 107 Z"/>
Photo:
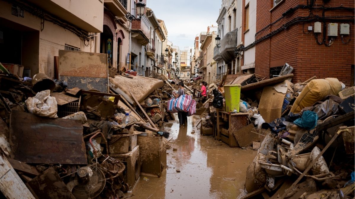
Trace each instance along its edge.
<path fill-rule="evenodd" d="M 327 95 L 338 95 L 341 90 L 342 84 L 337 78 L 314 79 L 304 87 L 290 113 L 297 114 L 303 108 L 312 106 Z"/>

